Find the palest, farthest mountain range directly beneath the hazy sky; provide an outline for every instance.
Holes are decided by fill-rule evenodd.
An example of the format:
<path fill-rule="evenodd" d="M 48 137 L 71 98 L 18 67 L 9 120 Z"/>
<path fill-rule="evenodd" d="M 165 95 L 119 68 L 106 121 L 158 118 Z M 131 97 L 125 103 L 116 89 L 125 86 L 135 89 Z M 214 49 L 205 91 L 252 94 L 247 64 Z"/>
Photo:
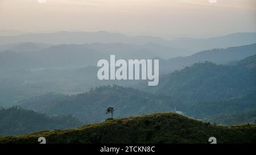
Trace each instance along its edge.
<path fill-rule="evenodd" d="M 256 33 L 232 33 L 226 36 L 210 37 L 208 39 L 178 38 L 165 40 L 154 36 L 126 36 L 121 33 L 99 32 L 55 32 L 26 33 L 18 36 L 0 36 L 1 45 L 14 43 L 46 43 L 46 44 L 91 44 L 91 43 L 125 43 L 134 45 L 160 44 L 175 49 L 187 51 L 189 56 L 199 51 L 214 48 L 228 48 L 256 43 Z M 1 48 L 0 48 L 1 49 Z M 155 51 L 157 52 L 157 51 Z M 182 53 L 184 54 L 184 53 Z"/>

